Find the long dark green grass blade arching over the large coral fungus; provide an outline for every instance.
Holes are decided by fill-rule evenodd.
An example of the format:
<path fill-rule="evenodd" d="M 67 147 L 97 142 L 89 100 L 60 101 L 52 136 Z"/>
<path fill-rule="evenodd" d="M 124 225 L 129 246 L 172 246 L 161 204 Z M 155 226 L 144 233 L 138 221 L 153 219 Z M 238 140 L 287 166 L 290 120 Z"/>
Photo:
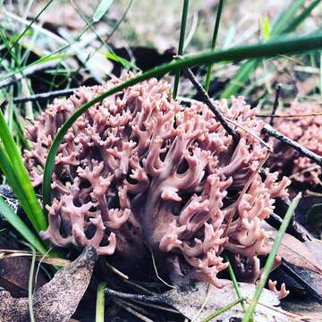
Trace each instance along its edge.
<path fill-rule="evenodd" d="M 322 35 L 310 36 L 302 38 L 292 38 L 288 40 L 275 40 L 273 42 L 267 42 L 265 44 L 257 44 L 246 47 L 234 47 L 228 50 L 220 51 L 208 51 L 199 53 L 197 55 L 189 55 L 183 57 L 180 60 L 176 60 L 169 64 L 162 64 L 143 72 L 137 77 L 133 77 L 130 80 L 126 80 L 118 86 L 107 90 L 105 93 L 100 94 L 91 101 L 87 102 L 83 106 L 80 106 L 72 116 L 63 124 L 61 129 L 57 132 L 53 144 L 48 152 L 47 163 L 44 170 L 44 180 L 43 180 L 43 205 L 44 208 L 50 203 L 50 184 L 51 177 L 53 174 L 55 156 L 57 154 L 58 148 L 64 139 L 64 135 L 68 129 L 72 126 L 77 118 L 89 109 L 90 106 L 100 102 L 104 98 L 111 96 L 123 89 L 126 89 L 132 85 L 135 85 L 143 80 L 148 80 L 152 77 L 162 76 L 166 72 L 178 71 L 185 67 L 190 67 L 195 64 L 212 64 L 214 62 L 223 61 L 241 61 L 248 58 L 258 58 L 267 57 L 275 55 L 291 55 L 294 53 L 299 53 L 309 50 L 315 50 L 322 47 Z M 45 210 L 45 209 L 44 209 Z"/>

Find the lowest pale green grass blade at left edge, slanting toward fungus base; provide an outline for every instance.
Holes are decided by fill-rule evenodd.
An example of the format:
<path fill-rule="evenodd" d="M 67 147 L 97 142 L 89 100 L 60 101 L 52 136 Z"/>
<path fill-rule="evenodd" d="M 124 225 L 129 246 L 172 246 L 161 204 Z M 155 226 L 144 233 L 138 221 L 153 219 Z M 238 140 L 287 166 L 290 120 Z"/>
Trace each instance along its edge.
<path fill-rule="evenodd" d="M 12 208 L 10 208 L 4 199 L 0 196 L 0 215 L 4 216 L 5 220 L 13 226 L 13 228 L 21 234 L 21 236 L 30 243 L 36 250 L 45 254 L 47 252 L 44 244 L 40 241 L 35 233 L 32 233 L 30 228 L 21 220 Z"/>

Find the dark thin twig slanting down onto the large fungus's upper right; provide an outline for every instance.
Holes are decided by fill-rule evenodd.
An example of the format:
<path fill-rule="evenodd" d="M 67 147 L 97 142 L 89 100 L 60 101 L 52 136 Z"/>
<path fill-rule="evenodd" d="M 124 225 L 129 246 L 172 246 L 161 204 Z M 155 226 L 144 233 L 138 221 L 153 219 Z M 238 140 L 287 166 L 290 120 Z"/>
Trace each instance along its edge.
<path fill-rule="evenodd" d="M 186 73 L 189 80 L 191 80 L 192 85 L 197 89 L 202 101 L 210 108 L 211 112 L 215 114 L 218 122 L 221 123 L 225 131 L 227 131 L 227 133 L 232 136 L 233 143 L 237 145 L 240 140 L 238 133 L 230 127 L 230 125 L 225 120 L 225 117 L 222 114 L 220 114 L 219 111 L 216 109 L 216 106 L 210 100 L 207 91 L 201 86 L 196 76 L 193 74 L 193 72 L 191 72 L 190 68 L 187 68 Z"/>

